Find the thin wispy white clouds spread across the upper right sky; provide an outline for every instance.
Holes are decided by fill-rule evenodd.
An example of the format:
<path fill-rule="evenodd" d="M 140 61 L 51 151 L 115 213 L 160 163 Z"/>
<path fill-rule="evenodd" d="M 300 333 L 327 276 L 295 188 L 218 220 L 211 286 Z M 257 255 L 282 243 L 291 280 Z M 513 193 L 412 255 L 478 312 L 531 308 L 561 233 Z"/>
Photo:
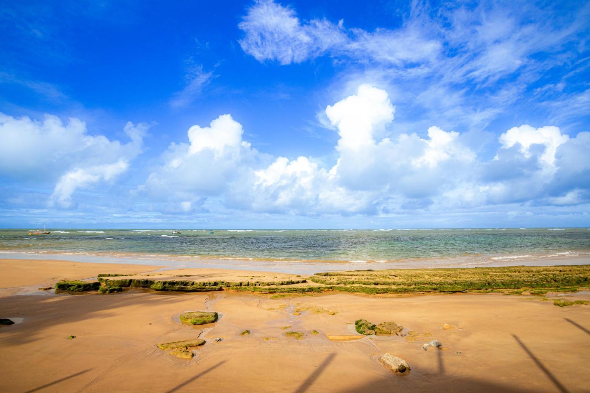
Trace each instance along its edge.
<path fill-rule="evenodd" d="M 588 17 L 590 4 L 584 3 L 563 12 L 557 4 L 536 2 L 437 9 L 413 2 L 399 27 L 370 31 L 345 27 L 342 20 L 301 19 L 290 6 L 259 0 L 238 27 L 242 50 L 261 62 L 287 66 L 333 58 L 335 97 L 362 83 L 386 87 L 405 109 L 396 128 L 411 132 L 434 119 L 441 127 L 481 130 L 515 107 L 533 108 L 543 119 L 588 112 L 590 90 L 579 74 L 560 80 L 585 67 L 580 60 L 590 55 L 584 43 Z M 559 83 L 551 97 L 532 98 L 536 89 Z M 560 108 L 566 97 L 574 105 Z"/>

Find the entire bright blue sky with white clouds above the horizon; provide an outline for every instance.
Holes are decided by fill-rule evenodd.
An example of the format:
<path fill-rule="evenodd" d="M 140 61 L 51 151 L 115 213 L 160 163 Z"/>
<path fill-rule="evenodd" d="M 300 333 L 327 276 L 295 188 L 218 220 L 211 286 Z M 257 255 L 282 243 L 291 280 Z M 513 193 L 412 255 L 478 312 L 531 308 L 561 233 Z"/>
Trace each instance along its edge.
<path fill-rule="evenodd" d="M 590 226 L 590 2 L 0 0 L 0 227 Z"/>

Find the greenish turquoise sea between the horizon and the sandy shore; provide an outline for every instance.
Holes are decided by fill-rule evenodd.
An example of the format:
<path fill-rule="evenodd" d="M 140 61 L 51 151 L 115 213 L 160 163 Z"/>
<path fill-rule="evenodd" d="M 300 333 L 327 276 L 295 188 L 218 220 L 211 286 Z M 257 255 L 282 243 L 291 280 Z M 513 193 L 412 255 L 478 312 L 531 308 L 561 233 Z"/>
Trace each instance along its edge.
<path fill-rule="evenodd" d="M 438 230 L 0 230 L 0 253 L 191 257 L 270 261 L 484 264 L 590 256 L 588 228 Z"/>

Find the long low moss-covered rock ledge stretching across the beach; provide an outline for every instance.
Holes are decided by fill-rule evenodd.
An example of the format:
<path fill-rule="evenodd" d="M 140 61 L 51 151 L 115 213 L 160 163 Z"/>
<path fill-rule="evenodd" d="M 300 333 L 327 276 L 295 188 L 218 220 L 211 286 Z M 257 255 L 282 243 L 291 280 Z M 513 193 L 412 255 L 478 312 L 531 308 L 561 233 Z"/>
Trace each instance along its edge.
<path fill-rule="evenodd" d="M 244 292 L 297 294 L 326 291 L 352 293 L 453 293 L 453 292 L 499 292 L 508 294 L 542 294 L 548 291 L 575 292 L 587 287 L 590 266 L 509 266 L 476 268 L 431 268 L 395 270 L 353 270 L 316 273 L 313 276 L 281 277 L 271 281 L 273 276 L 253 276 L 247 281 L 214 280 L 199 274 L 166 273 L 150 274 L 99 274 L 99 281 L 109 287 L 137 287 L 156 291 L 209 292 L 234 290 Z M 248 276 L 240 276 L 248 277 Z M 259 280 L 254 279 L 257 277 Z M 276 279 L 276 277 L 274 277 Z M 268 280 L 268 281 L 263 281 Z M 208 281 L 205 281 L 208 280 Z M 307 285 L 303 285 L 307 283 Z M 65 284 L 61 284 L 60 290 Z M 87 289 L 83 289 L 87 290 Z M 78 292 L 78 290 L 73 290 Z M 569 302 L 555 300 L 559 307 L 585 304 L 585 300 Z M 321 309 L 299 307 L 293 315 L 302 312 L 328 313 Z M 448 330 L 452 325 L 445 325 Z M 454 328 L 451 327 L 451 328 Z M 393 334 L 393 333 L 383 333 Z"/>

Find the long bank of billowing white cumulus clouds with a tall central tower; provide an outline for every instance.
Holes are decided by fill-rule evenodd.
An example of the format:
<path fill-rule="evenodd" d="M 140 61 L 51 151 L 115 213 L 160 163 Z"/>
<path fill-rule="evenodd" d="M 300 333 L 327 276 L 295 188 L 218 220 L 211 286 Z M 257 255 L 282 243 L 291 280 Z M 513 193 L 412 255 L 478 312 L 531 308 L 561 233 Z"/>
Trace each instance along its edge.
<path fill-rule="evenodd" d="M 145 189 L 181 210 L 217 198 L 227 207 L 312 216 L 588 203 L 588 185 L 573 180 L 579 169 L 568 160 L 583 154 L 590 133 L 570 139 L 555 126 L 513 127 L 486 159 L 460 133 L 437 126 L 427 137 L 391 136 L 395 107 L 385 90 L 367 84 L 325 114 L 339 135 L 333 166 L 264 156 L 224 114 L 209 127 L 191 127 L 189 143 L 172 144 Z"/>

